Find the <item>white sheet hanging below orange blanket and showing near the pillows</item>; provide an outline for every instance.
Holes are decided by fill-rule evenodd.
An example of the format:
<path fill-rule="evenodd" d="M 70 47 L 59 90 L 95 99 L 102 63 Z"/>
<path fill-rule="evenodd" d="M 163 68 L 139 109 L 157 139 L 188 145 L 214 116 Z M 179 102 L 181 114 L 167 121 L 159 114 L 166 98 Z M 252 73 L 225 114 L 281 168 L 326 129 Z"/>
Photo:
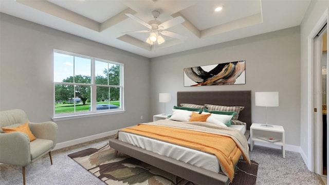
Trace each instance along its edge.
<path fill-rule="evenodd" d="M 243 134 L 246 132 L 246 125 L 231 125 L 230 127 L 241 131 Z M 221 170 L 218 159 L 213 154 L 126 132 L 119 132 L 118 139 L 120 141 L 141 147 L 142 149 L 193 164 L 206 170 L 216 173 Z"/>

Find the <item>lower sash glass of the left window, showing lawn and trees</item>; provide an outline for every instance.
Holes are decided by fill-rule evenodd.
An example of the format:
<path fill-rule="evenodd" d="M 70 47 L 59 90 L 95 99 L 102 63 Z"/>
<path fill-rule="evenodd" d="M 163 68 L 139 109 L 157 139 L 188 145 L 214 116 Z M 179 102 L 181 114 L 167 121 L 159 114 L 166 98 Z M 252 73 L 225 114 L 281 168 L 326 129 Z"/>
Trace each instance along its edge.
<path fill-rule="evenodd" d="M 55 114 L 89 111 L 90 99 L 85 97 L 90 97 L 90 86 L 55 85 Z"/>

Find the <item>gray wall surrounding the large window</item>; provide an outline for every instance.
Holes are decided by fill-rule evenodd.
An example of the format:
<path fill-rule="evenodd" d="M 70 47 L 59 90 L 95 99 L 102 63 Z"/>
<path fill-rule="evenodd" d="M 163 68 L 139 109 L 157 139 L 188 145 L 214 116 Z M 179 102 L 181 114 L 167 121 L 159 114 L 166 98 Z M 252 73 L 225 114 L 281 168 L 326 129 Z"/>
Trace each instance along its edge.
<path fill-rule="evenodd" d="M 32 122 L 51 121 L 53 49 L 59 49 L 123 63 L 126 112 L 57 121 L 58 142 L 149 121 L 150 59 L 3 13 L 0 24 L 0 110 L 21 108 Z"/>

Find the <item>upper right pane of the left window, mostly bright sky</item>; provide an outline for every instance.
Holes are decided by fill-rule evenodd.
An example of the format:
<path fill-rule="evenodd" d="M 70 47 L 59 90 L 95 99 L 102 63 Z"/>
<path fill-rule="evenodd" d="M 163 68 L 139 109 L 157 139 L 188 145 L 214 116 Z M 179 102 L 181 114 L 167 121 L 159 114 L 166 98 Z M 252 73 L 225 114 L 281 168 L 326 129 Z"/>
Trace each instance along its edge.
<path fill-rule="evenodd" d="M 91 75 L 91 64 L 90 59 L 85 59 L 81 57 L 75 57 L 74 63 L 74 73 L 75 73 L 75 83 L 87 83 L 90 84 Z"/>

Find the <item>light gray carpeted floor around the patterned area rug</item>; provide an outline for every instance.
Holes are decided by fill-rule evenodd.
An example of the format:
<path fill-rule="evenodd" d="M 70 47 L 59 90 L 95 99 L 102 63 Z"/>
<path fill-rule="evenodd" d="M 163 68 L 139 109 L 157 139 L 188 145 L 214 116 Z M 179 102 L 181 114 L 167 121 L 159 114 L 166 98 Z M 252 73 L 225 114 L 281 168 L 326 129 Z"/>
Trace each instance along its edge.
<path fill-rule="evenodd" d="M 53 165 L 50 165 L 49 156 L 45 155 L 26 167 L 26 184 L 104 185 L 103 181 L 86 171 L 67 155 L 88 147 L 99 146 L 108 139 L 109 137 L 102 138 L 53 151 Z M 281 150 L 255 145 L 249 155 L 251 160 L 259 163 L 256 184 L 321 184 L 317 175 L 307 170 L 299 153 L 286 151 L 284 159 Z M 0 164 L 0 184 L 23 184 L 22 168 Z"/>

